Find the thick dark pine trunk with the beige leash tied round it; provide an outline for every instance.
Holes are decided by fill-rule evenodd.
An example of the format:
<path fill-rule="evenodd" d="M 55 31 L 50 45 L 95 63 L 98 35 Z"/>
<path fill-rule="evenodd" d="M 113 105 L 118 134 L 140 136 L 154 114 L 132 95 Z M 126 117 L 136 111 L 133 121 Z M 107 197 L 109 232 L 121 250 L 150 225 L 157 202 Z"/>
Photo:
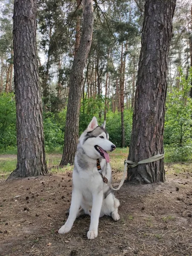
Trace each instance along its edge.
<path fill-rule="evenodd" d="M 168 52 L 176 0 L 146 0 L 128 160 L 163 154 Z M 163 159 L 128 168 L 127 181 L 165 180 Z"/>

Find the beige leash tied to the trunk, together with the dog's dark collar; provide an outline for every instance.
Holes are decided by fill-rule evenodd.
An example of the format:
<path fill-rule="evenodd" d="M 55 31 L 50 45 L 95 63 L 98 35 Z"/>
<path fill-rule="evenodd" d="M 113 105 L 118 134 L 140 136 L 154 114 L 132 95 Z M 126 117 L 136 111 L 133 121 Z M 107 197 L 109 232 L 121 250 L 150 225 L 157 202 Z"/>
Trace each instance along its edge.
<path fill-rule="evenodd" d="M 101 166 L 100 166 L 99 158 L 97 159 L 97 170 L 98 170 L 99 174 L 101 175 L 102 180 L 103 180 L 104 183 L 108 184 L 108 186 L 109 186 L 111 189 L 113 189 L 113 190 L 119 190 L 119 189 L 121 188 L 122 184 L 124 183 L 125 175 L 126 175 L 126 173 L 127 173 L 127 168 L 133 168 L 133 167 L 138 166 L 139 164 L 142 164 L 142 163 L 152 163 L 152 162 L 155 162 L 155 161 L 157 161 L 157 160 L 162 159 L 162 158 L 164 157 L 164 155 L 165 155 L 165 154 L 157 154 L 157 155 L 155 155 L 155 156 L 153 156 L 153 157 L 149 157 L 149 158 L 147 158 L 147 159 L 141 160 L 141 161 L 139 161 L 138 163 L 135 163 L 135 162 L 130 161 L 130 160 L 125 160 L 125 161 L 124 161 L 125 167 L 124 167 L 124 171 L 123 171 L 123 176 L 122 176 L 122 179 L 121 179 L 121 182 L 120 182 L 118 188 L 116 188 L 116 189 L 114 189 L 111 184 L 109 185 L 109 184 L 108 184 L 108 179 L 107 179 L 105 176 L 102 175 L 102 169 L 101 169 Z M 128 163 L 131 163 L 132 165 L 127 166 Z M 108 163 L 107 163 L 107 164 L 108 164 Z"/>

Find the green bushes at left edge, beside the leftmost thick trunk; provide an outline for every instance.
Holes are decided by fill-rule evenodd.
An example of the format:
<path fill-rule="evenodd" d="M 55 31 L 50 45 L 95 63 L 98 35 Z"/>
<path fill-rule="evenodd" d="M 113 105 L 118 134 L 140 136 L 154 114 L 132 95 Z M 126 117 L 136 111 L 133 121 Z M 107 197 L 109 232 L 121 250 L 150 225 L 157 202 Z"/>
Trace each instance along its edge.
<path fill-rule="evenodd" d="M 16 146 L 16 111 L 13 93 L 0 95 L 0 151 Z"/>

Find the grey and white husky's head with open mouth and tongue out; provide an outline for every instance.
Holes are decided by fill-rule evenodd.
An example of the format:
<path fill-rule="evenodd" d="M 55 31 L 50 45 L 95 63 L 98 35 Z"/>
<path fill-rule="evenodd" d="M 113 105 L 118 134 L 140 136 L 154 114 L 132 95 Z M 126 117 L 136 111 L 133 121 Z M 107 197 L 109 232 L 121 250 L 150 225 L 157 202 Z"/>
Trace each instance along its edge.
<path fill-rule="evenodd" d="M 79 143 L 87 154 L 87 156 L 97 159 L 105 158 L 109 162 L 109 155 L 107 151 L 113 151 L 116 146 L 109 141 L 109 134 L 105 131 L 105 122 L 99 126 L 97 119 L 93 116 L 87 129 L 81 134 Z"/>

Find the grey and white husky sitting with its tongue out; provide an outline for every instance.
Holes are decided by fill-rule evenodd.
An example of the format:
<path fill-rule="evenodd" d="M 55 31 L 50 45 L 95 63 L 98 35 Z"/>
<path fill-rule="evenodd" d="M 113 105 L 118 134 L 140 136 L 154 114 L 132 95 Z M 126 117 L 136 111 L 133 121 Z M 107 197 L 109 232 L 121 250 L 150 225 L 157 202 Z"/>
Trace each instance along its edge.
<path fill-rule="evenodd" d="M 109 215 L 114 221 L 119 220 L 119 200 L 104 183 L 97 169 L 97 159 L 99 159 L 102 175 L 108 179 L 108 183 L 111 183 L 111 166 L 107 151 L 113 151 L 115 148 L 105 131 L 105 122 L 99 126 L 94 116 L 79 138 L 73 169 L 70 214 L 66 223 L 58 230 L 59 234 L 69 232 L 75 219 L 84 214 L 91 216 L 88 239 L 97 237 L 99 217 Z"/>

